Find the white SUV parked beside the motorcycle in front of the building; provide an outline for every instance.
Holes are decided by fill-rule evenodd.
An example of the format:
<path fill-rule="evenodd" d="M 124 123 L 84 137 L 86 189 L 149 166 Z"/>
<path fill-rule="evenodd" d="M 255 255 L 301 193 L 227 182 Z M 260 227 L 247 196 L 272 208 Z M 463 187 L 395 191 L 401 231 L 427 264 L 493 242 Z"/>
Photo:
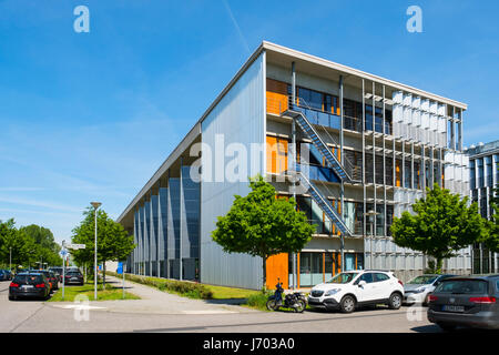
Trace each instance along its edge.
<path fill-rule="evenodd" d="M 354 312 L 356 306 L 385 303 L 400 308 L 404 300 L 401 281 L 388 271 L 357 270 L 343 272 L 314 286 L 308 296 L 310 307 Z"/>

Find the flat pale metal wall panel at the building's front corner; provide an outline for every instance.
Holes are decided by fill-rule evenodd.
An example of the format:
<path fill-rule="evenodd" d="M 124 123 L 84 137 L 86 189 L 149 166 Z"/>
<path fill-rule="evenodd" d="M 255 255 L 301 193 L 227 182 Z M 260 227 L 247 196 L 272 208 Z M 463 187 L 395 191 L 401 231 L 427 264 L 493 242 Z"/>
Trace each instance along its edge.
<path fill-rule="evenodd" d="M 215 142 L 228 148 L 245 148 L 252 152 L 252 143 L 261 148 L 265 143 L 265 53 L 262 53 L 237 80 L 225 97 L 202 123 L 202 140 L 215 155 Z M 222 134 L 222 135 L 220 135 Z M 265 173 L 265 151 L 247 159 L 247 175 Z M 203 156 L 206 156 L 203 153 Z M 248 155 L 246 155 L 248 156 Z M 221 156 L 217 156 L 221 158 Z M 232 159 L 226 159 L 227 162 Z M 258 290 L 262 287 L 262 260 L 246 254 L 228 254 L 214 243 L 211 232 L 216 217 L 224 215 L 232 206 L 234 194 L 246 195 L 249 191 L 246 179 L 242 181 L 220 181 L 220 169 L 227 164 L 203 169 L 201 187 L 201 281 L 208 284 L 228 285 Z M 217 170 L 216 170 L 217 169 Z M 217 179 L 215 179 L 217 178 Z M 218 182 L 215 182 L 218 181 Z"/>

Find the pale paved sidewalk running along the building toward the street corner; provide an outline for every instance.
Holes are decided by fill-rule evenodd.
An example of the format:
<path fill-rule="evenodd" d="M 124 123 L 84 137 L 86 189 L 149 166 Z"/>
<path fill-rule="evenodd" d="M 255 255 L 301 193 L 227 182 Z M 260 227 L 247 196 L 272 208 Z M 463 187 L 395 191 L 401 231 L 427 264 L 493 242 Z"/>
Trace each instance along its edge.
<path fill-rule="evenodd" d="M 114 287 L 121 287 L 123 281 L 106 275 L 105 283 Z M 138 295 L 141 300 L 90 300 L 89 308 L 92 311 L 142 314 L 227 314 L 258 312 L 235 305 L 234 303 L 237 303 L 237 301 L 234 302 L 234 300 L 192 300 L 128 280 L 125 281 L 125 291 Z M 45 305 L 58 308 L 74 308 L 77 305 L 81 304 L 73 302 L 49 302 L 45 303 Z"/>

